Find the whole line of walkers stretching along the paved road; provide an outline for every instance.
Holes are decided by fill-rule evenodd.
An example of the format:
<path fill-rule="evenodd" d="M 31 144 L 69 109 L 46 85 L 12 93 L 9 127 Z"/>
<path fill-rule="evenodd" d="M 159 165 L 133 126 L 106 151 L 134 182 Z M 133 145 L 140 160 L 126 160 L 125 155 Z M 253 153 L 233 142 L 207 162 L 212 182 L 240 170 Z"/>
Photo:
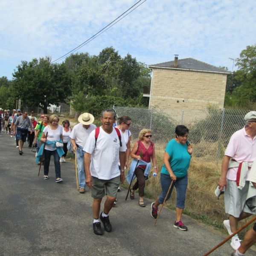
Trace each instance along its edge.
<path fill-rule="evenodd" d="M 15 110 L 13 111 L 15 112 Z M 54 158 L 56 183 L 61 183 L 61 162 L 65 162 L 67 151 L 73 147 L 76 152 L 78 167 L 79 192 L 84 193 L 86 186 L 91 190 L 93 197 L 93 232 L 102 235 L 103 230 L 111 232 L 112 225 L 109 220 L 109 212 L 116 202 L 119 184 L 125 180 L 125 169 L 128 168 L 129 157 L 133 158 L 126 179 L 129 183 L 135 176 L 137 181 L 130 189 L 130 199 L 134 200 L 135 191 L 139 190 L 140 207 L 145 207 L 143 200 L 145 180 L 148 179 L 151 162 L 154 166 L 154 174 L 157 175 L 157 158 L 154 143 L 151 141 L 152 132 L 149 129 L 140 131 L 138 141 L 131 149 L 131 118 L 121 116 L 117 119 L 113 109 L 102 111 L 100 120 L 102 126 L 96 128 L 93 124 L 94 117 L 90 113 L 79 116 L 79 123 L 70 128 L 70 122 L 65 120 L 63 126 L 58 125 L 57 115 L 41 115 L 40 121 L 23 111 L 17 110 L 17 115 L 6 111 L 11 119 L 11 131 L 13 135 L 17 131 L 19 154 L 22 155 L 23 143 L 26 136 L 35 133 L 34 144 L 38 144 L 37 160 L 44 157 L 44 179 L 49 179 L 49 162 L 51 155 Z M 1 118 L 5 118 L 2 114 Z M 7 117 L 6 117 L 7 119 Z M 256 196 L 256 111 L 250 111 L 244 117 L 246 125 L 230 138 L 230 143 L 225 151 L 222 163 L 221 178 L 218 183 L 220 191 L 225 189 L 225 211 L 230 215 L 229 220 L 224 221 L 228 233 L 232 235 L 238 229 L 241 219 L 255 214 Z M 17 128 L 17 129 L 16 129 Z M 7 131 L 11 134 L 11 131 Z M 163 166 L 160 172 L 162 193 L 151 204 L 151 216 L 157 218 L 158 207 L 168 200 L 175 186 L 177 191 L 176 220 L 174 227 L 186 231 L 188 228 L 181 220 L 185 208 L 186 189 L 188 185 L 188 169 L 192 157 L 192 145 L 188 141 L 189 129 L 184 125 L 177 125 L 175 138 L 169 141 L 163 156 Z M 29 139 L 29 142 L 31 140 Z M 31 147 L 31 144 L 29 144 Z M 43 156 L 43 157 L 42 157 Z M 169 191 L 169 193 L 168 193 Z M 167 195 L 168 193 L 168 195 Z M 107 196 L 104 209 L 100 213 L 102 198 Z M 249 197 L 250 195 L 250 197 Z M 249 203 L 248 203 L 249 201 Z M 250 229 L 244 241 L 238 235 L 233 236 L 231 246 L 234 249 L 233 256 L 241 256 L 256 242 L 256 224 Z"/>

